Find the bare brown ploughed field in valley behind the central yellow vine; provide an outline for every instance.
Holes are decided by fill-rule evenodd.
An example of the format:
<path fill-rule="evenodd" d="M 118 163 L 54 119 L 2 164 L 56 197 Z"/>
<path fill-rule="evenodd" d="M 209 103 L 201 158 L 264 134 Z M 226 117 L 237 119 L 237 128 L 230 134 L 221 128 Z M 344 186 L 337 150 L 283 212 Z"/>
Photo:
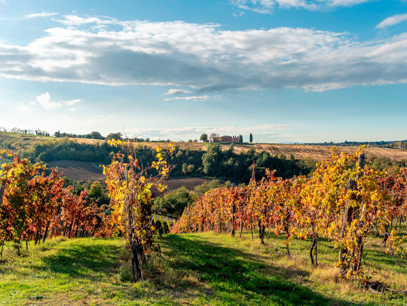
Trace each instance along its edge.
<path fill-rule="evenodd" d="M 106 176 L 103 175 L 102 170 L 95 163 L 61 160 L 49 162 L 48 165 L 50 169 L 58 167 L 59 172 L 64 171 L 64 176 L 69 177 L 72 181 L 93 183 L 100 180 L 104 183 L 106 180 Z M 168 186 L 168 190 L 175 190 L 182 186 L 185 186 L 188 190 L 193 190 L 195 186 L 209 181 L 211 180 L 205 177 L 170 176 L 165 184 Z"/>

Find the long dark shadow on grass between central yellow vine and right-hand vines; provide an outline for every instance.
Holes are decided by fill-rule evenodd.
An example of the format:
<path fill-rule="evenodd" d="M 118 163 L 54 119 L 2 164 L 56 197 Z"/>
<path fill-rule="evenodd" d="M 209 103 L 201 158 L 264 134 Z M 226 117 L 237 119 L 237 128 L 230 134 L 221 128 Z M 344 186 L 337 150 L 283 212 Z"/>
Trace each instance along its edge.
<path fill-rule="evenodd" d="M 212 302 L 217 299 L 222 305 L 351 305 L 323 297 L 282 276 L 303 271 L 290 269 L 284 273 L 281 268 L 271 267 L 276 273 L 266 275 L 266 268 L 270 267 L 237 248 L 193 235 L 166 235 L 161 245 L 164 257 L 169 258 L 167 265 L 175 270 L 197 273 L 200 282 L 207 283 L 215 291 Z"/>

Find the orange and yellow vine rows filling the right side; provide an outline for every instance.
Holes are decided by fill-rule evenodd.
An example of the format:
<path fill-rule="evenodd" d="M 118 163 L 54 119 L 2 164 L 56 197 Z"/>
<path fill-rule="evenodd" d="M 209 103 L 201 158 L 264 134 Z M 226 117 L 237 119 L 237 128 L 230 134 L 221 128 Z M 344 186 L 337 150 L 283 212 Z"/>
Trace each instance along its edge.
<path fill-rule="evenodd" d="M 406 217 L 406 194 L 406 168 L 389 176 L 365 167 L 363 147 L 354 154 L 334 150 L 332 159 L 319 163 L 310 179 L 283 180 L 268 171 L 267 177 L 252 179 L 246 188 L 211 190 L 186 208 L 171 231 L 231 232 L 232 236 L 240 232 L 241 236 L 244 229 L 264 244 L 266 228 L 272 229 L 284 235 L 288 256 L 295 237 L 310 238 L 313 266 L 318 265 L 318 239 L 327 237 L 338 249 L 340 274 L 368 283 L 370 275 L 362 266 L 368 235 L 381 239 L 389 256 L 404 252 L 401 245 L 406 237 L 397 236 L 393 226 Z"/>

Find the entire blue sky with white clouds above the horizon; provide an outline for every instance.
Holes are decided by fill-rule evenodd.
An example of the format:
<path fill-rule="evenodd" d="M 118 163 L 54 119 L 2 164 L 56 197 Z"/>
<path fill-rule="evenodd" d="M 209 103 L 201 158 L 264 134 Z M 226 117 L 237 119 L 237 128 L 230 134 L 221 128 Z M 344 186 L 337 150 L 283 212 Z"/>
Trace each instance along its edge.
<path fill-rule="evenodd" d="M 407 138 L 406 0 L 0 0 L 0 126 Z"/>

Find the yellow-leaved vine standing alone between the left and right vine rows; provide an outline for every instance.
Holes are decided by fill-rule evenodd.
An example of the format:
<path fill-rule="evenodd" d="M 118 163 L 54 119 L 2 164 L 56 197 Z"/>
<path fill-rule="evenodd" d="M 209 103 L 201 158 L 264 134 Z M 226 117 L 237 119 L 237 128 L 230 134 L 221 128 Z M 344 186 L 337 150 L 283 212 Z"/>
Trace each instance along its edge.
<path fill-rule="evenodd" d="M 123 233 L 128 242 L 133 281 L 141 280 L 142 263 L 152 252 L 160 252 L 154 237 L 157 227 L 151 216 L 149 200 L 154 197 L 154 189 L 164 191 L 166 188 L 163 181 L 168 180 L 172 169 L 166 157 L 168 152 L 174 150 L 173 142 L 168 144 L 166 152 L 158 146 L 157 160 L 150 165 L 143 165 L 138 159 L 132 142 L 113 139 L 109 140 L 109 144 L 119 146 L 125 152 L 119 152 L 110 165 L 104 166 L 112 211 L 109 222 L 117 232 Z"/>

